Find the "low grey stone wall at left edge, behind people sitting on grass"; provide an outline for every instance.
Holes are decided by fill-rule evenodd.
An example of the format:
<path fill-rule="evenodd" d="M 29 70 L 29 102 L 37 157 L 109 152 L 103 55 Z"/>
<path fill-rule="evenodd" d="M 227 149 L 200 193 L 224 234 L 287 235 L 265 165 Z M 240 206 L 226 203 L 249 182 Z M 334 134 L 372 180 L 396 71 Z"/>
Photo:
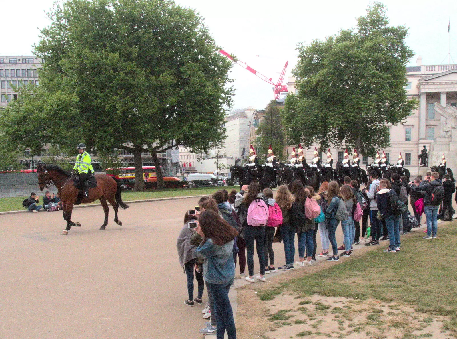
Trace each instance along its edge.
<path fill-rule="evenodd" d="M 57 188 L 48 191 L 57 193 Z M 37 173 L 0 173 L 0 198 L 28 197 L 31 192 L 43 196 L 38 188 Z"/>

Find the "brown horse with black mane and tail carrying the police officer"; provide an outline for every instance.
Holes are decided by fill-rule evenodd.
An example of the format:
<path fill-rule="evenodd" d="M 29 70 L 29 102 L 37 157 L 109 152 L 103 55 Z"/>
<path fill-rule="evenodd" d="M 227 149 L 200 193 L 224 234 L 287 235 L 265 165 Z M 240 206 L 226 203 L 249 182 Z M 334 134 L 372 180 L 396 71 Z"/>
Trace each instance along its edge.
<path fill-rule="evenodd" d="M 62 208 L 64 209 L 64 219 L 67 222 L 67 228 L 64 229 L 62 235 L 67 235 L 71 226 L 81 226 L 79 222 L 76 224 L 71 221 L 71 213 L 73 205 L 78 199 L 79 189 L 74 187 L 74 176 L 70 172 L 63 170 L 56 165 L 42 165 L 37 166 L 38 173 L 38 187 L 41 191 L 44 188 L 55 185 L 58 189 L 59 198 L 62 201 Z M 96 188 L 89 189 L 89 196 L 81 200 L 81 203 L 92 203 L 97 199 L 100 200 L 103 211 L 105 212 L 105 221 L 100 226 L 100 229 L 105 229 L 108 224 L 109 207 L 106 203 L 108 200 L 114 209 L 114 222 L 122 225 L 121 220 L 117 219 L 117 209 L 127 209 L 128 205 L 122 201 L 121 198 L 121 185 L 113 177 L 98 174 L 95 176 L 97 181 Z"/>

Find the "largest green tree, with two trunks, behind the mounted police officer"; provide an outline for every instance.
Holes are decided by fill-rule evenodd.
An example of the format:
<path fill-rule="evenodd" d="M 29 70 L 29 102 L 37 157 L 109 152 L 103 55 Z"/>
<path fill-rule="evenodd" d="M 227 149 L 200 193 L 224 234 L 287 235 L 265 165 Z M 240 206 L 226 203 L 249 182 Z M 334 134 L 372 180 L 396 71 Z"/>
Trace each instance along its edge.
<path fill-rule="evenodd" d="M 201 152 L 223 139 L 231 62 L 195 10 L 169 0 L 68 0 L 49 17 L 35 46 L 45 59 L 40 86 L 34 102 L 6 111 L 11 121 L 30 106 L 27 119 L 44 126 L 27 128 L 42 141 L 132 152 L 136 190 L 144 189 L 142 152 L 158 167 L 172 147 Z"/>

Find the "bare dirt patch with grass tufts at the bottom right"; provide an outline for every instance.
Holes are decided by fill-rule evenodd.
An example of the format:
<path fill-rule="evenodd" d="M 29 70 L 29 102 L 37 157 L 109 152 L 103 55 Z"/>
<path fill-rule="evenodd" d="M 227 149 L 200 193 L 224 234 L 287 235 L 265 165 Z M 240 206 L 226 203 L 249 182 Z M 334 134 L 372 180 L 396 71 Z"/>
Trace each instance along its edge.
<path fill-rule="evenodd" d="M 253 290 L 242 293 L 250 321 L 241 315 L 239 338 L 455 338 L 443 329 L 448 318 L 418 313 L 406 304 L 287 292 L 266 302 L 255 299 Z"/>

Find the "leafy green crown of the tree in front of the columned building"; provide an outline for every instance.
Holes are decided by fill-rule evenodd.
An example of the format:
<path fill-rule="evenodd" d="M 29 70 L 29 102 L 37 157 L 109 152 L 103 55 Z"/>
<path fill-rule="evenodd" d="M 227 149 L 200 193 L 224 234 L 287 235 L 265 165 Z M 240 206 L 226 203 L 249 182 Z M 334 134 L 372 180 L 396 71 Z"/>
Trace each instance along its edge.
<path fill-rule="evenodd" d="M 298 94 L 287 96 L 283 114 L 290 141 L 356 147 L 370 156 L 390 145 L 387 124 L 402 123 L 417 103 L 404 89 L 414 55 L 408 30 L 388 24 L 386 8 L 374 3 L 356 29 L 298 46 Z"/>

